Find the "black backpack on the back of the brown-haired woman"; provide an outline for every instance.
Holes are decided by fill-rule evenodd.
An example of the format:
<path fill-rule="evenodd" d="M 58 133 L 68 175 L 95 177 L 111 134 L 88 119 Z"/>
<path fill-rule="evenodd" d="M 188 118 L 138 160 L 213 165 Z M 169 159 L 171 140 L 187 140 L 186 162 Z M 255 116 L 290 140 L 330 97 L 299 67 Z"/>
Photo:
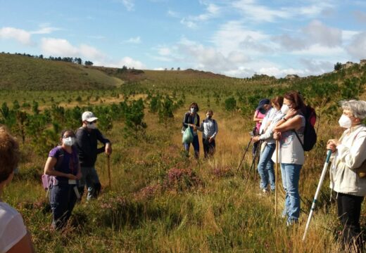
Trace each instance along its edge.
<path fill-rule="evenodd" d="M 315 122 L 317 120 L 317 114 L 315 113 L 314 108 L 312 108 L 310 105 L 306 105 L 304 117 L 305 117 L 305 129 L 304 129 L 303 143 L 301 142 L 300 137 L 298 137 L 296 131 L 294 130 L 293 131 L 296 134 L 298 141 L 300 141 L 303 150 L 310 151 L 314 148 L 315 143 L 317 143 L 317 133 L 314 128 Z"/>

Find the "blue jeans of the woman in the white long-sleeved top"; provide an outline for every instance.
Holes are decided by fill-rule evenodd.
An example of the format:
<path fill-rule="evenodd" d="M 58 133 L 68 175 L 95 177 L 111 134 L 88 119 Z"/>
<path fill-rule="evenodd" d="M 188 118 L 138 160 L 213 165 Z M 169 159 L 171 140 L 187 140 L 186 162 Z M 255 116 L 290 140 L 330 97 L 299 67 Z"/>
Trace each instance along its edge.
<path fill-rule="evenodd" d="M 258 147 L 259 148 L 259 147 Z M 268 184 L 270 184 L 271 190 L 274 190 L 274 171 L 272 155 L 276 149 L 275 143 L 267 143 L 260 154 L 258 162 L 258 174 L 260 175 L 260 189 L 267 189 Z M 269 179 L 269 182 L 268 182 Z"/>

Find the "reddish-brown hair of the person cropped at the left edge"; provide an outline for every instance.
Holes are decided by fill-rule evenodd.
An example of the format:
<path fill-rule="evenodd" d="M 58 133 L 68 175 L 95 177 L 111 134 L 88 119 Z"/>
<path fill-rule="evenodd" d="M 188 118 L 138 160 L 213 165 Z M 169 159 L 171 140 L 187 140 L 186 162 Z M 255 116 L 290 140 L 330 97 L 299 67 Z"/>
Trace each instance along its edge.
<path fill-rule="evenodd" d="M 18 166 L 19 159 L 18 142 L 0 125 L 0 183 L 8 179 Z"/>

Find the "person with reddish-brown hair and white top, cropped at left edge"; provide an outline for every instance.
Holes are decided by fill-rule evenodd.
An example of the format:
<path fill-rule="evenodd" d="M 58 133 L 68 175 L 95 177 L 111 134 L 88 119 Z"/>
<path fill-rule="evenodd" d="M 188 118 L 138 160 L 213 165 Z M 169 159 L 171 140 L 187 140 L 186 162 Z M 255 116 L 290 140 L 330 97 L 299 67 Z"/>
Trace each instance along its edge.
<path fill-rule="evenodd" d="M 4 126 L 0 126 L 0 197 L 6 185 L 11 183 L 18 166 L 20 151 L 18 142 Z M 34 252 L 30 233 L 22 216 L 0 199 L 0 252 Z"/>

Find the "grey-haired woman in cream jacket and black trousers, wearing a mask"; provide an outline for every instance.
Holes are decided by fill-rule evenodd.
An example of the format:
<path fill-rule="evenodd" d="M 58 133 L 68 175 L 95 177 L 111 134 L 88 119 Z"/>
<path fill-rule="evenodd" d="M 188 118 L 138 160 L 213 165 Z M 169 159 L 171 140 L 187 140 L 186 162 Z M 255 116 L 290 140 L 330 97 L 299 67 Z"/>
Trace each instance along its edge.
<path fill-rule="evenodd" d="M 359 252 L 362 249 L 360 212 L 366 195 L 366 178 L 361 178 L 357 169 L 366 158 L 366 127 L 362 124 L 366 117 L 366 102 L 343 100 L 340 105 L 343 114 L 339 126 L 346 130 L 341 138 L 327 143 L 327 149 L 333 153 L 330 188 L 336 192 L 338 217 L 343 226 L 343 246 Z"/>

